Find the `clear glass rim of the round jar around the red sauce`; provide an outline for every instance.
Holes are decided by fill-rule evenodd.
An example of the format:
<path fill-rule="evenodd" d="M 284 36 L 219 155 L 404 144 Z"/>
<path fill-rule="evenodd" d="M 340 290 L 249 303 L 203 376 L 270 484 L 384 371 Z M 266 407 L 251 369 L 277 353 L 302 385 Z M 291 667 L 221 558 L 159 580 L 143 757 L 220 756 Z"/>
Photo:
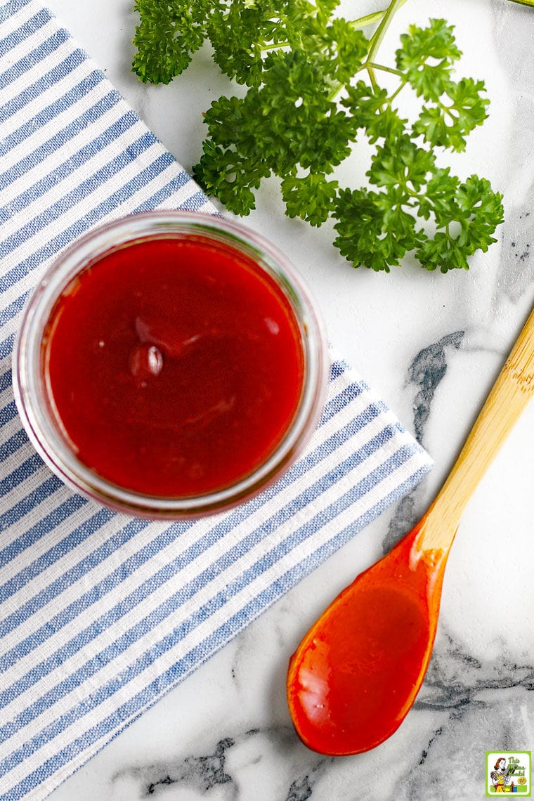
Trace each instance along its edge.
<path fill-rule="evenodd" d="M 196 235 L 249 256 L 282 290 L 299 324 L 304 358 L 303 388 L 295 417 L 267 460 L 223 489 L 184 497 L 149 496 L 101 477 L 76 457 L 58 432 L 43 391 L 42 336 L 54 304 L 66 285 L 88 264 L 114 248 L 165 236 Z M 322 317 L 291 261 L 243 224 L 195 211 L 143 211 L 105 223 L 70 244 L 34 289 L 14 344 L 13 384 L 22 425 L 43 461 L 75 491 L 115 511 L 149 519 L 203 517 L 229 509 L 259 493 L 295 461 L 323 409 L 329 375 Z"/>

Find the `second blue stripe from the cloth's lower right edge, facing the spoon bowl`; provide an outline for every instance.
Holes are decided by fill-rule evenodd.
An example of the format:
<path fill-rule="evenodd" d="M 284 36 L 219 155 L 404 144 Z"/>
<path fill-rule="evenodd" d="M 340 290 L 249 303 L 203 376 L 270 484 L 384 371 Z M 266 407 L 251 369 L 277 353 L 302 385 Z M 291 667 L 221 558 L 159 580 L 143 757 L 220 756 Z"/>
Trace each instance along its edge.
<path fill-rule="evenodd" d="M 166 637 L 164 637 L 158 643 L 155 643 L 150 651 L 142 654 L 130 666 L 128 666 L 125 670 L 122 670 L 121 673 L 117 674 L 114 676 L 114 678 L 107 682 L 106 685 L 98 687 L 97 690 L 94 690 L 89 698 L 84 699 L 81 703 L 78 703 L 76 706 L 72 707 L 68 712 L 62 714 L 54 721 L 54 723 L 51 723 L 49 726 L 47 726 L 46 730 L 43 730 L 38 735 L 35 735 L 33 738 L 28 740 L 22 748 L 19 748 L 18 751 L 14 751 L 9 757 L 4 759 L 2 763 L 0 763 L 0 772 L 12 770 L 16 765 L 21 763 L 23 759 L 26 759 L 29 755 L 34 754 L 66 727 L 72 725 L 72 723 L 74 723 L 76 720 L 83 718 L 91 709 L 99 706 L 99 704 L 106 701 L 107 698 L 110 698 L 112 695 L 114 695 L 120 689 L 120 687 L 125 686 L 132 680 L 132 678 L 142 674 L 143 671 L 147 670 L 147 667 L 151 666 L 157 658 L 175 647 L 177 642 L 180 642 L 187 636 L 187 634 L 190 634 L 192 630 L 195 630 L 195 628 L 204 620 L 211 618 L 215 611 L 222 608 L 230 598 L 239 594 L 239 592 L 243 590 L 245 586 L 250 584 L 252 578 L 257 578 L 259 575 L 263 574 L 263 572 L 268 570 L 272 564 L 278 562 L 279 559 L 289 553 L 296 545 L 299 545 L 300 542 L 304 541 L 307 539 L 307 537 L 310 537 L 313 533 L 323 528 L 324 525 L 327 525 L 327 523 L 334 520 L 335 517 L 337 517 L 339 513 L 343 511 L 343 509 L 346 509 L 348 506 L 353 504 L 359 499 L 359 497 L 362 497 L 362 495 L 367 493 L 371 487 L 378 484 L 379 481 L 382 481 L 384 467 L 386 468 L 387 473 L 390 473 L 393 469 L 395 469 L 395 467 L 404 463 L 404 461 L 412 456 L 414 450 L 415 449 L 412 445 L 407 445 L 404 448 L 399 449 L 399 451 L 393 454 L 384 465 L 379 465 L 379 467 L 365 477 L 363 481 L 360 481 L 357 485 L 352 487 L 343 495 L 343 497 L 337 499 L 334 504 L 327 506 L 325 509 L 321 509 L 319 513 L 315 515 L 315 517 L 313 517 L 299 529 L 296 529 L 293 533 L 291 533 L 290 537 L 287 537 L 275 545 L 275 548 L 264 554 L 257 562 L 255 562 L 255 565 L 245 570 L 237 580 L 225 586 L 223 590 L 220 590 L 214 598 L 211 598 L 211 600 L 197 610 L 195 614 L 192 614 L 190 618 L 188 618 L 186 621 L 183 621 L 171 634 L 167 634 Z M 230 557 L 230 552 L 228 552 L 227 556 Z M 184 591 L 185 588 L 179 590 L 179 593 L 176 595 L 181 595 L 184 593 Z M 170 600 L 171 599 L 167 600 L 166 605 Z M 255 600 L 253 603 L 255 606 L 257 606 L 259 601 Z M 238 618 L 241 625 L 246 622 L 243 618 L 243 610 L 239 610 L 239 613 L 235 614 L 233 618 L 230 618 L 230 621 L 234 620 L 234 618 Z M 225 624 L 223 629 L 227 629 L 227 626 L 229 625 L 231 625 L 230 622 Z M 216 632 L 215 634 L 219 634 L 219 632 Z M 214 638 L 214 635 L 211 635 L 211 638 Z M 226 640 L 227 633 L 225 633 L 224 636 L 219 634 L 214 645 L 220 646 L 222 645 L 223 641 Z M 114 656 L 117 655 L 117 645 L 118 643 L 115 642 L 114 646 L 110 646 L 111 650 L 114 651 Z M 74 678 L 74 675 L 75 674 L 70 677 L 71 680 Z M 75 684 L 71 683 L 70 689 L 73 689 L 74 686 Z M 141 695 L 145 694 L 146 692 L 147 689 L 143 690 Z M 123 706 L 127 707 L 130 706 L 130 704 L 131 701 L 127 702 Z M 94 729 L 101 727 L 102 723 L 98 723 L 97 727 L 94 727 Z M 85 743 L 87 734 L 88 733 L 86 732 L 85 735 L 83 735 L 83 738 L 81 738 Z M 74 743 L 77 742 L 78 741 L 74 741 Z M 66 747 L 66 749 L 60 752 L 60 754 L 68 753 L 70 748 L 74 746 L 74 743 L 71 743 L 70 746 Z"/>

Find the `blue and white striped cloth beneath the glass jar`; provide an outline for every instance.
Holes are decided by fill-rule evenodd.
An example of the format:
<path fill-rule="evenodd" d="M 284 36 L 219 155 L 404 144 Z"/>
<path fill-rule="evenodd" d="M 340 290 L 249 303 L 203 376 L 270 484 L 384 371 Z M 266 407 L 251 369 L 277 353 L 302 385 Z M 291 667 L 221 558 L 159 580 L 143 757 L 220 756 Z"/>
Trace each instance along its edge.
<path fill-rule="evenodd" d="M 83 231 L 149 208 L 213 211 L 36 0 L 0 0 L 0 795 L 62 779 L 427 472 L 334 357 L 322 424 L 278 484 L 175 525 L 74 495 L 22 431 L 20 312 Z"/>

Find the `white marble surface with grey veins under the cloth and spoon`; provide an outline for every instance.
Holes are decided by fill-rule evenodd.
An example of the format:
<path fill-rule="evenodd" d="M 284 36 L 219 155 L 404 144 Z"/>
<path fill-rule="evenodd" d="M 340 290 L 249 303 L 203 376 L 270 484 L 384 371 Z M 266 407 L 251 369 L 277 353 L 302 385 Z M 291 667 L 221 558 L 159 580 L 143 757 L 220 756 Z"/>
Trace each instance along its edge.
<path fill-rule="evenodd" d="M 168 87 L 143 86 L 130 73 L 130 0 L 49 6 L 191 168 L 201 153 L 202 111 L 228 91 L 209 54 Z M 379 6 L 367 2 L 358 11 Z M 504 192 L 499 243 L 476 256 L 470 272 L 434 275 L 410 264 L 389 276 L 352 270 L 326 227 L 283 217 L 274 183 L 263 187 L 246 223 L 295 261 L 331 340 L 420 437 L 436 467 L 412 497 L 68 779 L 54 801 L 482 798 L 484 751 L 534 745 L 532 404 L 464 515 L 428 676 L 399 731 L 365 755 L 325 758 L 299 743 L 285 701 L 287 660 L 300 636 L 424 512 L 534 300 L 534 9 L 506 0 L 408 0 L 384 50 L 429 15 L 456 25 L 459 71 L 484 78 L 492 101 L 490 119 L 451 160 L 458 174 L 485 175 Z"/>

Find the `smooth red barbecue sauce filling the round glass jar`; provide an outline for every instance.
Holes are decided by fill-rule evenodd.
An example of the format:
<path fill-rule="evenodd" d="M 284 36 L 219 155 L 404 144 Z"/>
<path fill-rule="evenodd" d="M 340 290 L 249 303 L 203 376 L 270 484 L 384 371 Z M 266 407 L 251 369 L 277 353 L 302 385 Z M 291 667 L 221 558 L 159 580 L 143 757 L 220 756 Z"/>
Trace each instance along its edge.
<path fill-rule="evenodd" d="M 95 260 L 55 304 L 42 364 L 79 460 L 157 497 L 252 473 L 287 433 L 303 388 L 286 296 L 253 260 L 201 237 Z"/>

